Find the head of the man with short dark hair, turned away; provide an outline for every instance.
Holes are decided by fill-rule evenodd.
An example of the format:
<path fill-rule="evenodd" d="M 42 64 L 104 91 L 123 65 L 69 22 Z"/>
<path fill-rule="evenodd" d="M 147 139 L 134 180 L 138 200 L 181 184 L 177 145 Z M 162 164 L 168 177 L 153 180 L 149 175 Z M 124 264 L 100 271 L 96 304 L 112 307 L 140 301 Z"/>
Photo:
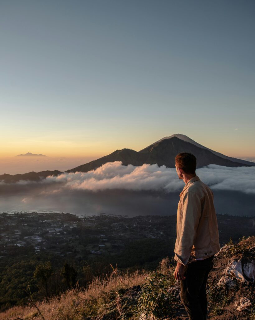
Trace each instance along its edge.
<path fill-rule="evenodd" d="M 181 152 L 175 157 L 175 167 L 179 179 L 186 175 L 196 174 L 197 159 L 192 153 Z"/>

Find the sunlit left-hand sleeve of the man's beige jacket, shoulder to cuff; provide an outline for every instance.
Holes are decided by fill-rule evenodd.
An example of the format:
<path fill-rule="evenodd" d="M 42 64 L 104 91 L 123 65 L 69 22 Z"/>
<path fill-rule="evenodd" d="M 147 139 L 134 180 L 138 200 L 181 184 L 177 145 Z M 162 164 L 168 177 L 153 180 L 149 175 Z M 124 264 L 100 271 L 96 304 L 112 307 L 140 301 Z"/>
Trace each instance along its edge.
<path fill-rule="evenodd" d="M 174 260 L 186 265 L 190 258 L 202 214 L 201 199 L 197 193 L 188 191 L 183 196 L 182 212 L 182 230 Z"/>

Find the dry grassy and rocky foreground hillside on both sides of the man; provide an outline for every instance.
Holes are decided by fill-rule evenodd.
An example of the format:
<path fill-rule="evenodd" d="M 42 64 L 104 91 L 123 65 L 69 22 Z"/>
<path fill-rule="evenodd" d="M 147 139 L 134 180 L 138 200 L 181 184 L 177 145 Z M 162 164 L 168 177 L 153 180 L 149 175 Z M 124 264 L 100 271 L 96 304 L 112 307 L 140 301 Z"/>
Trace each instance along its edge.
<path fill-rule="evenodd" d="M 213 269 L 208 275 L 207 282 L 208 318 L 212 320 L 254 319 L 249 311 L 255 299 L 254 254 L 255 236 L 249 236 L 246 239 L 243 237 L 237 244 L 230 242 L 215 254 Z M 80 287 L 70 289 L 58 297 L 36 302 L 36 306 L 45 319 L 49 320 L 113 320 L 117 318 L 145 320 L 146 317 L 137 308 L 138 299 L 145 292 L 146 308 L 149 308 L 148 300 L 151 301 L 156 297 L 160 303 L 155 304 L 154 310 L 156 314 L 158 311 L 161 312 L 165 298 L 170 295 L 172 310 L 165 311 L 164 319 L 186 320 L 187 313 L 179 296 L 180 282 L 174 280 L 174 269 L 175 261 L 168 257 L 159 261 L 157 271 L 164 276 L 164 282 L 159 283 L 153 276 L 155 270 L 121 272 L 116 266 L 111 275 L 103 279 L 93 278 L 86 289 Z M 145 283 L 147 287 L 144 288 Z M 162 287 L 165 290 L 164 295 Z M 240 303 L 243 300 L 247 301 L 246 308 Z M 240 304 L 239 311 L 237 305 Z M 0 319 L 11 320 L 16 317 L 15 319 L 33 320 L 36 315 L 38 312 L 31 304 L 10 308 L 0 313 Z M 155 319 L 159 318 L 162 319 L 162 317 L 155 317 Z"/>

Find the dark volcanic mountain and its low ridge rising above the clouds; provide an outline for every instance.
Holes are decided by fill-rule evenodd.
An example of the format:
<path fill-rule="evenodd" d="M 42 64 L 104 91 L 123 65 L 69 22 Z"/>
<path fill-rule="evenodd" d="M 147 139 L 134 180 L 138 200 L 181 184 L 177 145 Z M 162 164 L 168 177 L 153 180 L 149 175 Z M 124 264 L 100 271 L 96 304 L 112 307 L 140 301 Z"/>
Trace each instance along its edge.
<path fill-rule="evenodd" d="M 222 155 L 221 153 L 204 147 L 189 137 L 178 133 L 173 134 L 170 137 L 164 137 L 140 151 L 127 148 L 115 150 L 109 155 L 103 156 L 86 164 L 79 165 L 65 172 L 88 172 L 90 170 L 97 169 L 107 162 L 114 161 L 121 161 L 123 165 L 132 164 L 140 166 L 143 164 L 157 164 L 158 166 L 165 165 L 167 168 L 174 168 L 174 158 L 180 152 L 190 152 L 196 156 L 197 168 L 201 168 L 209 164 L 217 164 L 227 167 L 255 166 L 255 163 L 253 162 Z M 4 180 L 7 183 L 13 183 L 19 180 L 38 181 L 46 178 L 48 175 L 57 176 L 61 173 L 63 172 L 55 170 L 28 172 L 16 175 L 2 174 L 0 175 L 0 181 Z"/>

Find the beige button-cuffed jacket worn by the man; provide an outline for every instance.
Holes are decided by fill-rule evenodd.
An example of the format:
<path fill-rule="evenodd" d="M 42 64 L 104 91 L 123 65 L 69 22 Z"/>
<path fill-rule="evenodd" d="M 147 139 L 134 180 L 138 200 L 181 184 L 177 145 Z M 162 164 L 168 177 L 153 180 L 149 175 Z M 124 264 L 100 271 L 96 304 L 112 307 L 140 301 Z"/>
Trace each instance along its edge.
<path fill-rule="evenodd" d="M 180 193 L 176 232 L 174 260 L 184 265 L 191 256 L 209 257 L 221 249 L 213 192 L 198 176 Z"/>

